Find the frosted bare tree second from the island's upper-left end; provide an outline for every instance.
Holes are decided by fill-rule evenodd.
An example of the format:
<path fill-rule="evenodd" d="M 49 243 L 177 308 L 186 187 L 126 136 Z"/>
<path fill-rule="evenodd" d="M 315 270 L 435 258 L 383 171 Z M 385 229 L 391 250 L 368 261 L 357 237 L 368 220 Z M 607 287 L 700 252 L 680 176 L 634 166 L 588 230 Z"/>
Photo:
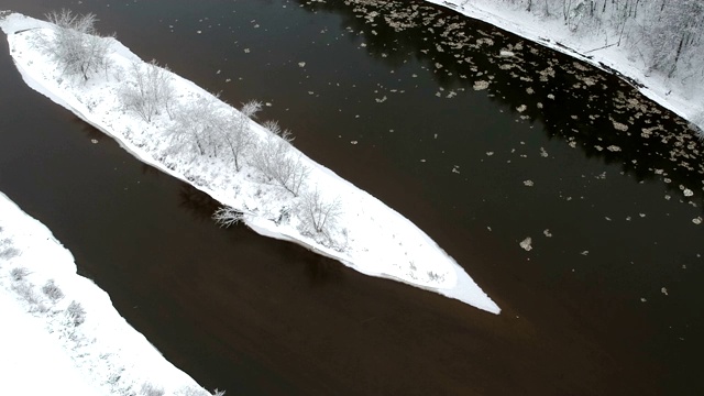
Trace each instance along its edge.
<path fill-rule="evenodd" d="M 152 118 L 163 108 L 173 119 L 174 88 L 168 67 L 160 67 L 154 59 L 148 64 L 133 62 L 130 77 L 131 80 L 124 82 L 119 92 L 127 110 L 152 122 Z"/>

